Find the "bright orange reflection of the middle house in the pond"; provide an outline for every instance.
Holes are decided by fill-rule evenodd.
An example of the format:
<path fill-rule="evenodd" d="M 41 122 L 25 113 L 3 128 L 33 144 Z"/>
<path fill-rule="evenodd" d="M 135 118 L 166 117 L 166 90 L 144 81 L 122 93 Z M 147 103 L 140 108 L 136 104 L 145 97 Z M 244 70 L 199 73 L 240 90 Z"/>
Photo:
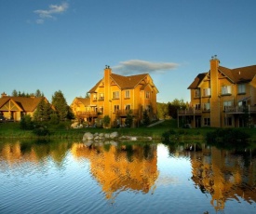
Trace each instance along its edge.
<path fill-rule="evenodd" d="M 74 143 L 72 153 L 90 161 L 91 174 L 106 197 L 111 199 L 116 191 L 127 189 L 148 193 L 158 177 L 156 145 L 104 146 Z"/>

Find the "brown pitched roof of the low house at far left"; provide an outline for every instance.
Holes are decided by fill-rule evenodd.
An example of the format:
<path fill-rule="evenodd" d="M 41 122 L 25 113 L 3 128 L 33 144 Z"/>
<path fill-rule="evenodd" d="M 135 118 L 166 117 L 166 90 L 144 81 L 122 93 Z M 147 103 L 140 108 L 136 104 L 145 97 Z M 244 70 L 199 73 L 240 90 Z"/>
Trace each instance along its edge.
<path fill-rule="evenodd" d="M 25 98 L 25 97 L 5 96 L 4 98 L 0 98 L 0 106 L 4 105 L 8 100 L 14 100 L 17 103 L 17 105 L 19 105 L 20 109 L 22 109 L 25 112 L 34 112 L 35 108 L 37 107 L 39 102 L 42 100 L 42 97 Z"/>

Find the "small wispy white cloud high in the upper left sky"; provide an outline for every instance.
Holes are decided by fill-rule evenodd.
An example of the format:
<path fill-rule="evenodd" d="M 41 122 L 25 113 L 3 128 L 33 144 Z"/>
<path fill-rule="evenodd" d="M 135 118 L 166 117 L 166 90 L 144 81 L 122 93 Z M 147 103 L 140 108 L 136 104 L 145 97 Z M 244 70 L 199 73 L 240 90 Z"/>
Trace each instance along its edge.
<path fill-rule="evenodd" d="M 68 3 L 62 3 L 61 5 L 50 5 L 48 9 L 37 9 L 34 13 L 38 14 L 39 18 L 35 22 L 38 24 L 44 23 L 46 19 L 56 19 L 54 15 L 61 14 L 68 9 Z"/>

